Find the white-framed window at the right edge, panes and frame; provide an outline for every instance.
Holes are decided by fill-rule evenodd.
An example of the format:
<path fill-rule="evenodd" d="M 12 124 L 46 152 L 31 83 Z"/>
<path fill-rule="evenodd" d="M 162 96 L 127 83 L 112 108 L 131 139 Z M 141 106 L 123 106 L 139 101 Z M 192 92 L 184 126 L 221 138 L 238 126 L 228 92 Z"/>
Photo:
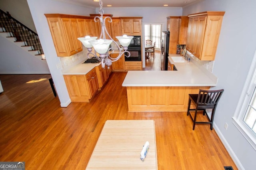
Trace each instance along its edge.
<path fill-rule="evenodd" d="M 256 51 L 233 120 L 256 150 Z"/>

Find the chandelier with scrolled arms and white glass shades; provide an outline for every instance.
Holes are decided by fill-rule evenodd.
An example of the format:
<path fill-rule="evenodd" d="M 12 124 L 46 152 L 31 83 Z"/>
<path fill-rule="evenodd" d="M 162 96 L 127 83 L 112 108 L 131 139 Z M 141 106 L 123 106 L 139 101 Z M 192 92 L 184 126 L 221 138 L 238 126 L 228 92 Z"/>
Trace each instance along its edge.
<path fill-rule="evenodd" d="M 105 67 L 105 65 L 107 65 L 109 69 L 110 65 L 112 65 L 112 62 L 120 59 L 120 57 L 125 52 L 127 52 L 127 55 L 125 56 L 130 57 L 130 52 L 127 51 L 127 49 L 133 36 L 127 36 L 127 35 L 116 36 L 116 38 L 118 39 L 118 41 L 120 42 L 120 44 L 124 49 L 124 51 L 121 51 L 120 46 L 112 39 L 112 37 L 109 35 L 108 30 L 106 29 L 106 26 L 105 26 L 105 20 L 109 18 L 108 22 L 112 22 L 112 18 L 110 18 L 109 16 L 106 16 L 105 18 L 103 18 L 104 11 L 102 10 L 102 6 L 103 6 L 102 0 L 99 0 L 99 4 L 100 4 L 100 10 L 98 10 L 98 12 L 100 16 L 95 16 L 94 22 L 100 21 L 101 23 L 100 38 L 96 40 L 97 37 L 85 36 L 85 37 L 78 38 L 78 40 L 80 40 L 83 43 L 83 45 L 86 47 L 86 49 L 89 51 L 87 53 L 88 58 L 91 58 L 89 55 L 92 54 L 93 57 L 96 57 L 99 61 L 101 61 L 102 67 Z M 110 40 L 106 40 L 106 34 L 108 35 Z M 110 53 L 114 53 L 114 48 L 110 47 L 110 44 L 112 42 L 116 44 L 119 50 L 119 55 L 116 58 L 110 57 Z M 94 53 L 92 53 L 92 47 L 94 48 Z"/>

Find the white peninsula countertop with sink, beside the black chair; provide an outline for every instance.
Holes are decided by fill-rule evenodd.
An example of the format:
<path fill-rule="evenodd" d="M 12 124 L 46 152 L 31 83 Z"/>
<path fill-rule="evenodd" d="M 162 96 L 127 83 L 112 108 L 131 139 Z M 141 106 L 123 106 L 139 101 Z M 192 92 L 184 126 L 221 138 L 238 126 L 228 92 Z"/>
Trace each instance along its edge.
<path fill-rule="evenodd" d="M 122 86 L 216 86 L 218 78 L 207 70 L 197 67 L 190 61 L 175 63 L 171 54 L 168 59 L 178 71 L 128 71 Z"/>

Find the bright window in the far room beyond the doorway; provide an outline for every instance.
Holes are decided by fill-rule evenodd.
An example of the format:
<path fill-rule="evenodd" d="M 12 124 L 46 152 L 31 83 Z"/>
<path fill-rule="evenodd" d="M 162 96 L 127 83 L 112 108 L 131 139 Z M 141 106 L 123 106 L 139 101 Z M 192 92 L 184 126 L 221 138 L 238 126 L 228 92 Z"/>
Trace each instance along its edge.
<path fill-rule="evenodd" d="M 161 48 L 162 24 L 144 24 L 145 43 L 146 40 L 156 42 L 156 48 Z"/>

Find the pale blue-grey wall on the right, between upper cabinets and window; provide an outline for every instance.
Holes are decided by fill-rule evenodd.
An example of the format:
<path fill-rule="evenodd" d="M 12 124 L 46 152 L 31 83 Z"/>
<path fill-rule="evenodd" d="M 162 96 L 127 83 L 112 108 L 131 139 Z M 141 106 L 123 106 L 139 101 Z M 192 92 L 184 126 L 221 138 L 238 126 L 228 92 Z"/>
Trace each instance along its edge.
<path fill-rule="evenodd" d="M 256 50 L 255 6 L 255 0 L 204 0 L 183 9 L 183 15 L 226 11 L 213 67 L 213 73 L 218 77 L 218 85 L 214 89 L 224 89 L 216 110 L 214 128 L 238 168 L 246 170 L 255 169 L 256 151 L 233 125 L 232 116 Z M 227 130 L 225 123 L 228 123 Z"/>

